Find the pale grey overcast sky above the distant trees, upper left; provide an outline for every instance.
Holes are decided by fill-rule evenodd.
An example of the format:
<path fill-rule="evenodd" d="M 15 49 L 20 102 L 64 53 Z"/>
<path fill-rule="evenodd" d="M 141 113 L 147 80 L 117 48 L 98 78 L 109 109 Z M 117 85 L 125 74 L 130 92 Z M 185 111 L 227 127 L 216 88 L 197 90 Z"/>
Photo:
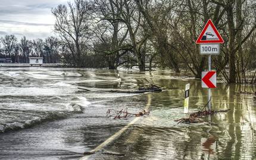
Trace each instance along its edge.
<path fill-rule="evenodd" d="M 55 22 L 51 8 L 67 0 L 0 0 L 0 37 L 14 34 L 20 39 L 46 38 L 53 35 Z"/>

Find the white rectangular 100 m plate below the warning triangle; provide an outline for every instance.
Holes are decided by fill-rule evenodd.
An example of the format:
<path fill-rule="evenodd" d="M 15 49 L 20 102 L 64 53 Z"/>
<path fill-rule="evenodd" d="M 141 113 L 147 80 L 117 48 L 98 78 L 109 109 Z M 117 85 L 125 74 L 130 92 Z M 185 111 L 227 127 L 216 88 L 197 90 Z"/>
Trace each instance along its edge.
<path fill-rule="evenodd" d="M 220 53 L 220 44 L 200 44 L 201 55 L 218 55 Z"/>

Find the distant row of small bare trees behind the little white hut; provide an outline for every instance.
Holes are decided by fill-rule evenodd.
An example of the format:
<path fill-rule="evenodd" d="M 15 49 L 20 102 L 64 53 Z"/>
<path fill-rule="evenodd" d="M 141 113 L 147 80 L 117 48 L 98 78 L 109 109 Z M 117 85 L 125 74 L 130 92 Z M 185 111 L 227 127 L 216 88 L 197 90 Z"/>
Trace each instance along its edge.
<path fill-rule="evenodd" d="M 23 36 L 20 41 L 14 35 L 0 38 L 1 58 L 11 58 L 13 63 L 29 63 L 29 57 L 43 57 L 45 63 L 58 63 L 61 60 L 61 42 L 56 37 L 45 40 L 28 40 Z"/>

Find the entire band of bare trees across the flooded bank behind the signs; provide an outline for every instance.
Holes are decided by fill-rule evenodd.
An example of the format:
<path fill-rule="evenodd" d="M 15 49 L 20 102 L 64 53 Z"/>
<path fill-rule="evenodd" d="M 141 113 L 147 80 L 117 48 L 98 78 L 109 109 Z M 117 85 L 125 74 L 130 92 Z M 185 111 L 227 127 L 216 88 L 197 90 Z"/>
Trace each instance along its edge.
<path fill-rule="evenodd" d="M 89 68 L 137 66 L 140 71 L 169 68 L 196 78 L 207 68 L 195 40 L 208 19 L 225 43 L 213 68 L 229 83 L 256 83 L 256 2 L 252 0 L 74 0 L 52 9 L 55 37 L 46 40 L 1 38 L 2 57 L 27 63 Z"/>

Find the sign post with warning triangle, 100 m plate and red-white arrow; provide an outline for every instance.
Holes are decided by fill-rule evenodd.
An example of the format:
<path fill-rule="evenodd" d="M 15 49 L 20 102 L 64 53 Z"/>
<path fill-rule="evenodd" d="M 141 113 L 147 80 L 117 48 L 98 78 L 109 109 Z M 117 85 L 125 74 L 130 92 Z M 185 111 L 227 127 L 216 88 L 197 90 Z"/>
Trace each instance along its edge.
<path fill-rule="evenodd" d="M 200 54 L 208 55 L 208 71 L 202 72 L 202 88 L 208 88 L 208 109 L 211 110 L 211 88 L 216 88 L 216 71 L 211 71 L 211 55 L 220 53 L 220 44 L 224 43 L 213 21 L 208 20 L 199 34 L 196 44 L 200 44 Z"/>

